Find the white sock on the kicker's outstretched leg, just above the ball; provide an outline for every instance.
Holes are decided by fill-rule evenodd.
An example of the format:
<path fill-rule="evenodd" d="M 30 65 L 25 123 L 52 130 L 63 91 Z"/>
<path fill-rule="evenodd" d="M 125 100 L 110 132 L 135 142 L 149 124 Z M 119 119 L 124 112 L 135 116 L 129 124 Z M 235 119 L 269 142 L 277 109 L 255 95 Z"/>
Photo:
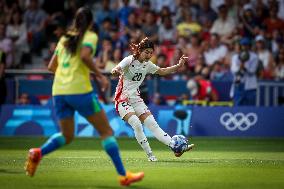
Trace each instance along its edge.
<path fill-rule="evenodd" d="M 144 125 L 150 129 L 150 131 L 153 133 L 153 135 L 162 143 L 169 146 L 171 137 L 165 133 L 158 125 L 158 123 L 155 121 L 154 116 L 150 115 L 148 116 L 145 121 Z"/>

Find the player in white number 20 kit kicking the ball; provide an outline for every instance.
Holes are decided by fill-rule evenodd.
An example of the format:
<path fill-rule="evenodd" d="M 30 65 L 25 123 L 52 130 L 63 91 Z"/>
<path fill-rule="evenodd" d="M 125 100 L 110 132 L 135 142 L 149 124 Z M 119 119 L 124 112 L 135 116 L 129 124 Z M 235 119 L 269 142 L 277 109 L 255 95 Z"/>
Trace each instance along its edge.
<path fill-rule="evenodd" d="M 138 45 L 132 44 L 130 47 L 133 54 L 125 57 L 111 71 L 113 75 L 119 76 L 114 99 L 115 108 L 120 117 L 132 126 L 137 142 L 146 152 L 148 160 L 157 161 L 143 132 L 142 123 L 160 142 L 167 146 L 169 146 L 171 137 L 155 121 L 140 97 L 139 86 L 148 73 L 167 75 L 176 72 L 184 65 L 188 57 L 183 55 L 177 65 L 160 68 L 149 61 L 154 51 L 154 44 L 148 38 L 144 38 Z M 188 145 L 185 151 L 189 151 L 192 147 L 193 144 Z M 175 153 L 175 156 L 179 157 L 185 151 Z"/>

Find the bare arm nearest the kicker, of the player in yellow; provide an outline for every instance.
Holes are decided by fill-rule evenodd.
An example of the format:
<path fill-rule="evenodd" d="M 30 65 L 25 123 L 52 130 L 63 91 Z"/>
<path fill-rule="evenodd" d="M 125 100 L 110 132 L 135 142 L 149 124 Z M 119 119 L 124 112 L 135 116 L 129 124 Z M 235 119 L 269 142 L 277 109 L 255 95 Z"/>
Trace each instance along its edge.
<path fill-rule="evenodd" d="M 94 72 L 97 80 L 101 83 L 102 91 L 105 91 L 109 86 L 109 82 L 107 78 L 100 72 L 97 66 L 93 63 L 92 49 L 90 47 L 83 46 L 81 48 L 80 57 L 82 61 L 86 64 L 86 66 L 92 72 Z"/>

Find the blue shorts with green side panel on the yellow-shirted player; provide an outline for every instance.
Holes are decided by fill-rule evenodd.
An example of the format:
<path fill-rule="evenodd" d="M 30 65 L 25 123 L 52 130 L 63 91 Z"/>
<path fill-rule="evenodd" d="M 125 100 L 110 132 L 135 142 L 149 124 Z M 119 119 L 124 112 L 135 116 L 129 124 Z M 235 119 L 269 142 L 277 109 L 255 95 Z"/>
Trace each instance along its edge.
<path fill-rule="evenodd" d="M 98 98 L 92 92 L 76 95 L 53 96 L 53 104 L 56 116 L 59 119 L 70 118 L 78 111 L 84 117 L 88 117 L 102 110 Z"/>

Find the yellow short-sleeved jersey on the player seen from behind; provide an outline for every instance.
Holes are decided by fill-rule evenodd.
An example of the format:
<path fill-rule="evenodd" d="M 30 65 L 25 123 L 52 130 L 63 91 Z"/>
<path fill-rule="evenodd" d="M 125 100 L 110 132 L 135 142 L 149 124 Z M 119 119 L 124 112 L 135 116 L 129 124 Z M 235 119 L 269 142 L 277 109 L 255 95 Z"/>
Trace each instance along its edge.
<path fill-rule="evenodd" d="M 86 31 L 73 55 L 64 46 L 65 41 L 66 37 L 61 37 L 55 49 L 58 66 L 54 76 L 52 95 L 91 92 L 93 87 L 90 81 L 90 70 L 80 57 L 80 49 L 83 46 L 90 47 L 94 55 L 98 41 L 97 35 L 92 31 Z"/>

